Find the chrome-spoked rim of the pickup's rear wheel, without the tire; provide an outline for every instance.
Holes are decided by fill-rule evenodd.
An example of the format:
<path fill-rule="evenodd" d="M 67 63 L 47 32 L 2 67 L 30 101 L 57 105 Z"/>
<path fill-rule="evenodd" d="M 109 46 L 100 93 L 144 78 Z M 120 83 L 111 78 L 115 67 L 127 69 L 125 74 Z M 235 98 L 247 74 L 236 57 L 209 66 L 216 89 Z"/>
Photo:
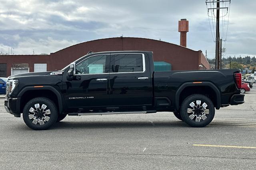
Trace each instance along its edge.
<path fill-rule="evenodd" d="M 192 101 L 187 108 L 187 113 L 192 121 L 205 121 L 209 115 L 208 105 L 200 100 Z"/>

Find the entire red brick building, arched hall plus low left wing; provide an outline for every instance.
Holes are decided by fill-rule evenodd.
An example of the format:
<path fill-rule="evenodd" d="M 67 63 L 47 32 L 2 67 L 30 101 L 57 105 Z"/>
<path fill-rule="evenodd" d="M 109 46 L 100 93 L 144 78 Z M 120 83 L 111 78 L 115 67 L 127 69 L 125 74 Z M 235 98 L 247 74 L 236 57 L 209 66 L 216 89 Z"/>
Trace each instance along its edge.
<path fill-rule="evenodd" d="M 83 42 L 50 55 L 0 55 L 0 77 L 33 71 L 52 71 L 64 68 L 88 51 L 153 51 L 154 61 L 165 61 L 172 70 L 210 69 L 201 50 L 146 38 L 106 38 Z"/>

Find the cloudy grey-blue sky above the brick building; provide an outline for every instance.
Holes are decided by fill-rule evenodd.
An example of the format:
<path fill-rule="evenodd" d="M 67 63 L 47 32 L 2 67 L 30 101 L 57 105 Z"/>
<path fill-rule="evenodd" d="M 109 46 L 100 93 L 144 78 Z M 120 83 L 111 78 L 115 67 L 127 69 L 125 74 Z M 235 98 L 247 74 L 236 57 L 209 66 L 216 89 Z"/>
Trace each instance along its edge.
<path fill-rule="evenodd" d="M 225 57 L 256 55 L 255 6 L 255 0 L 231 0 L 223 28 L 220 20 Z M 205 0 L 0 0 L 0 47 L 4 53 L 12 48 L 14 54 L 49 54 L 121 35 L 179 44 L 178 20 L 186 18 L 187 47 L 213 58 L 215 21 L 206 8 Z"/>

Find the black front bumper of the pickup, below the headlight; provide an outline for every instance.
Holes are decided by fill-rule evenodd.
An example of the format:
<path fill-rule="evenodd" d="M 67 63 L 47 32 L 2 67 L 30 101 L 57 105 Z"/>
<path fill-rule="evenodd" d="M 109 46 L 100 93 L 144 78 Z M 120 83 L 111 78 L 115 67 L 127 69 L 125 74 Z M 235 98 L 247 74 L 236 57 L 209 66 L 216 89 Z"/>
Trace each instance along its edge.
<path fill-rule="evenodd" d="M 20 117 L 20 98 L 8 98 L 4 100 L 4 108 L 7 113 Z"/>

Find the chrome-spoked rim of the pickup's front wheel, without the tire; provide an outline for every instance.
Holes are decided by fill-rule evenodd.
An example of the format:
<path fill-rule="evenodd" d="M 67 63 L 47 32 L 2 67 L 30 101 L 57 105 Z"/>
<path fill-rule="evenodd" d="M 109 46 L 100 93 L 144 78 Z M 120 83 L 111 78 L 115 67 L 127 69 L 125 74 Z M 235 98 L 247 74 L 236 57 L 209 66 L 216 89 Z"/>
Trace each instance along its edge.
<path fill-rule="evenodd" d="M 39 103 L 35 104 L 34 107 L 30 107 L 28 117 L 35 125 L 44 125 L 44 123 L 50 120 L 50 109 L 46 109 L 47 106 Z"/>

